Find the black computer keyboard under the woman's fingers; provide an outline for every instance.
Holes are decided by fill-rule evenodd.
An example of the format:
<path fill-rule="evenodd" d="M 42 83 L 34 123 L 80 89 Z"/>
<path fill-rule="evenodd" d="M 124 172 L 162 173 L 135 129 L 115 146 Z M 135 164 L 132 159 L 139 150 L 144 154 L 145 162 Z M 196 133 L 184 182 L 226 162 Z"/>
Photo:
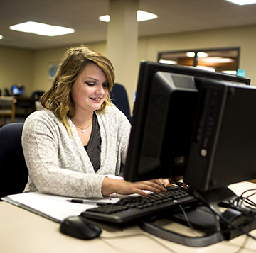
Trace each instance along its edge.
<path fill-rule="evenodd" d="M 117 203 L 90 208 L 82 212 L 85 218 L 103 220 L 111 223 L 127 223 L 168 208 L 176 208 L 179 204 L 196 201 L 181 188 L 170 186 L 164 193 L 151 193 L 149 196 L 130 196 Z"/>

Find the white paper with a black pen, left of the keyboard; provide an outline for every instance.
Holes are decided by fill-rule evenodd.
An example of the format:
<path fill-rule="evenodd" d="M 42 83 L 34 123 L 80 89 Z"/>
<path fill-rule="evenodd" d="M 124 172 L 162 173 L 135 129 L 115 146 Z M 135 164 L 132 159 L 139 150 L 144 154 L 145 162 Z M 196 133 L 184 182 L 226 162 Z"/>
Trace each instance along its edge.
<path fill-rule="evenodd" d="M 8 198 L 11 200 L 26 205 L 34 210 L 38 210 L 41 213 L 44 213 L 56 220 L 63 220 L 68 216 L 80 215 L 86 209 L 94 208 L 96 205 L 85 204 L 85 203 L 72 203 L 70 202 L 73 198 L 62 197 L 62 196 L 53 196 L 48 194 L 43 194 L 38 191 L 31 193 L 21 193 L 15 195 L 9 195 Z M 95 203 L 100 202 L 111 202 L 114 203 L 119 200 L 119 198 L 92 198 L 86 199 Z"/>

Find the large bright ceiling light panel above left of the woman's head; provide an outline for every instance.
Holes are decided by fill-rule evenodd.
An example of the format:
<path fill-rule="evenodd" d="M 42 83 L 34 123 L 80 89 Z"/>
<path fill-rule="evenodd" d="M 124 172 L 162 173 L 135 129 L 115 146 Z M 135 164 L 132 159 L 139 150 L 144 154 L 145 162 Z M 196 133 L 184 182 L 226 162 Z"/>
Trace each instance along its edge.
<path fill-rule="evenodd" d="M 65 28 L 62 26 L 51 26 L 45 23 L 37 23 L 33 21 L 10 26 L 10 29 L 17 30 L 23 33 L 34 33 L 44 36 L 58 36 L 75 32 L 75 30 L 71 28 Z"/>

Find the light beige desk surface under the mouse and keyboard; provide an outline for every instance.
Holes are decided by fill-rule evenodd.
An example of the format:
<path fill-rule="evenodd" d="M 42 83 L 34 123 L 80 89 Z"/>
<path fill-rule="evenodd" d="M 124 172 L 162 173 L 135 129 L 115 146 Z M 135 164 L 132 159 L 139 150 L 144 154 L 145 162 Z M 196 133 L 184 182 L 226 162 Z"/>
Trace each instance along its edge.
<path fill-rule="evenodd" d="M 255 184 L 242 182 L 230 186 L 240 195 Z M 252 197 L 256 201 L 256 196 Z M 229 242 L 220 242 L 208 247 L 186 247 L 169 242 L 142 231 L 138 225 L 130 224 L 124 229 L 110 223 L 97 223 L 102 228 L 102 239 L 80 240 L 59 232 L 59 224 L 30 213 L 6 202 L 0 203 L 0 252 L 1 253 L 85 253 L 85 252 L 225 252 L 252 253 L 256 251 L 256 241 L 245 235 Z M 189 230 L 189 228 L 188 228 Z M 250 232 L 256 236 L 256 230 Z M 137 235 L 139 234 L 139 235 Z M 118 238 L 118 236 L 128 236 Z M 104 237 L 104 238 L 103 238 Z M 114 239 L 107 239 L 111 237 Z"/>

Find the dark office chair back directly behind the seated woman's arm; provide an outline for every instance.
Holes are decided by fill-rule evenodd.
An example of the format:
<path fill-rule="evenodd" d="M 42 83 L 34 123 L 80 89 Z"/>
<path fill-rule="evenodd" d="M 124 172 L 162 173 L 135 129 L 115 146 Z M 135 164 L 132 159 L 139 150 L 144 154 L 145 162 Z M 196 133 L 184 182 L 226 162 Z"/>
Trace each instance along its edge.
<path fill-rule="evenodd" d="M 0 128 L 0 198 L 22 193 L 28 181 L 28 169 L 21 147 L 24 123 Z"/>

